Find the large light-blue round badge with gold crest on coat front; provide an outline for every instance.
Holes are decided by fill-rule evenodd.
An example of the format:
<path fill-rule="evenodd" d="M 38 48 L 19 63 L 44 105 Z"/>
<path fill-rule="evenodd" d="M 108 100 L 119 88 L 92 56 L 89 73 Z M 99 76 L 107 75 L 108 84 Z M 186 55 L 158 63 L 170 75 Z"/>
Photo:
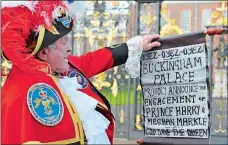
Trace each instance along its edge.
<path fill-rule="evenodd" d="M 37 83 L 27 93 L 27 105 L 33 117 L 43 125 L 57 125 L 64 108 L 58 92 L 48 84 Z"/>

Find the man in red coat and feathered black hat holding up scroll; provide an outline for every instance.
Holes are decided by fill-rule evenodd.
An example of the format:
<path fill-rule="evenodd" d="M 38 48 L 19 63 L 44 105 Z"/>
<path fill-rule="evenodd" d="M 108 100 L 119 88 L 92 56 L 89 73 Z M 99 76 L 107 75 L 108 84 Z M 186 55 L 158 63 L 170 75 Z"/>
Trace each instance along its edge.
<path fill-rule="evenodd" d="M 74 17 L 64 2 L 27 1 L 1 11 L 1 48 L 12 63 L 1 95 L 2 144 L 112 144 L 110 104 L 88 78 L 124 63 L 138 76 L 142 51 L 160 46 L 152 42 L 159 35 L 77 57 L 69 55 Z"/>

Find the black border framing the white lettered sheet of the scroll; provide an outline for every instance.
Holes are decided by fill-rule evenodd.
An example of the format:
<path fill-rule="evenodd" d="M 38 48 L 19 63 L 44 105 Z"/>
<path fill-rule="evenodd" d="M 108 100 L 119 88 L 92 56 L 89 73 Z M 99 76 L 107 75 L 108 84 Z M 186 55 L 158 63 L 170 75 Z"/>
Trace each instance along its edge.
<path fill-rule="evenodd" d="M 192 36 L 191 36 L 192 35 Z M 204 35 L 204 37 L 202 37 L 202 35 Z M 207 94 L 208 94 L 208 119 L 209 119 L 209 122 L 208 122 L 208 138 L 190 138 L 190 137 L 157 137 L 157 136 L 154 136 L 154 137 L 148 137 L 148 138 L 169 138 L 169 139 L 207 139 L 208 142 L 209 142 L 209 139 L 210 139 L 210 136 L 211 136 L 211 130 L 210 130 L 210 127 L 211 127 L 211 94 L 210 94 L 210 89 L 211 89 L 211 86 L 210 86 L 210 80 L 209 80 L 209 66 L 208 66 L 208 61 L 210 58 L 208 58 L 208 49 L 207 49 L 207 44 L 206 44 L 206 36 L 204 34 L 204 31 L 200 31 L 200 32 L 194 32 L 194 33 L 186 33 L 186 34 L 182 34 L 182 35 L 177 35 L 177 36 L 171 36 L 171 37 L 165 37 L 165 38 L 161 38 L 161 39 L 158 39 L 157 41 L 159 41 L 162 45 L 161 47 L 155 47 L 153 48 L 152 50 L 149 50 L 149 51 L 156 51 L 156 50 L 162 50 L 162 49 L 168 49 L 168 48 L 175 48 L 175 47 L 181 47 L 181 46 L 187 46 L 187 45 L 194 45 L 194 44 L 191 44 L 189 40 L 186 41 L 186 37 L 194 37 L 194 40 L 195 43 L 194 44 L 202 44 L 204 43 L 204 46 L 205 46 L 205 56 L 206 56 L 206 59 L 205 59 L 205 65 L 206 65 L 206 83 L 207 83 L 207 87 L 208 87 L 208 90 L 207 90 Z M 172 39 L 175 39 L 176 40 L 172 43 L 170 43 L 170 41 Z M 166 45 L 166 43 L 169 43 L 169 45 Z M 187 43 L 186 43 L 187 42 Z M 149 52 L 149 51 L 146 51 L 146 52 Z M 212 65 L 212 64 L 211 64 Z M 142 60 L 140 60 L 140 66 L 142 66 Z M 144 125 L 143 125 L 143 129 L 144 129 L 144 135 L 146 133 L 146 125 L 145 125 L 145 107 L 144 107 L 144 93 L 143 93 L 143 85 L 142 85 L 142 67 L 140 67 L 140 86 L 142 88 L 142 96 L 143 96 L 143 120 L 144 120 Z M 142 137 L 142 141 L 144 142 L 143 138 L 145 136 Z M 148 143 L 148 142 L 147 142 Z M 155 142 L 151 142 L 152 144 L 155 143 Z M 158 143 L 158 142 L 157 142 Z M 162 143 L 161 143 L 162 144 Z M 164 142 L 164 144 L 167 144 Z"/>

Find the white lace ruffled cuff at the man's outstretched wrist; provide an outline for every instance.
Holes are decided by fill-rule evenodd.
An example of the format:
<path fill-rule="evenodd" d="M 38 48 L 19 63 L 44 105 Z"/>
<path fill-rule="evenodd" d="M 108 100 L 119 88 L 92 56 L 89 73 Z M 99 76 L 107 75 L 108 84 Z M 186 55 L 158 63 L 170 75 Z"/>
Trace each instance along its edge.
<path fill-rule="evenodd" d="M 143 38 L 141 36 L 135 36 L 126 42 L 128 46 L 128 59 L 125 69 L 132 78 L 140 76 L 140 58 L 143 51 L 142 42 Z"/>

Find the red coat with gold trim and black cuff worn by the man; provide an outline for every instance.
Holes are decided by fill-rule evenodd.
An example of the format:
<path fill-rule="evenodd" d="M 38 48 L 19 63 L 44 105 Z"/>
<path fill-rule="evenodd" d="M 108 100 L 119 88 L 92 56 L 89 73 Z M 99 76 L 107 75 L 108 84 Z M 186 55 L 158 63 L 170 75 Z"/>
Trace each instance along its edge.
<path fill-rule="evenodd" d="M 109 119 L 110 125 L 106 133 L 111 143 L 113 142 L 114 135 L 114 117 L 110 112 L 110 104 L 94 88 L 88 78 L 116 65 L 125 63 L 127 59 L 126 44 L 122 44 L 120 47 L 122 50 L 118 49 L 117 51 L 112 48 L 103 48 L 80 57 L 69 56 L 68 58 L 71 65 L 70 72 L 77 71 L 81 76 L 79 79 L 84 79 L 84 82 L 82 82 L 84 89 L 81 89 L 81 91 L 97 99 L 100 104 L 96 110 Z M 124 54 L 123 51 L 125 52 Z M 122 53 L 121 55 L 120 52 Z M 28 96 L 31 96 L 30 93 L 33 90 L 31 86 L 37 83 L 51 86 L 59 94 L 60 100 L 62 100 L 64 114 L 62 120 L 57 125 L 46 126 L 41 124 L 33 117 L 31 108 L 28 107 Z M 34 102 L 34 100 L 31 102 Z M 83 129 L 76 108 L 69 100 L 69 97 L 60 91 L 57 78 L 47 74 L 24 72 L 14 65 L 2 88 L 1 137 L 3 144 L 23 144 L 29 142 L 83 144 L 84 142 Z"/>

